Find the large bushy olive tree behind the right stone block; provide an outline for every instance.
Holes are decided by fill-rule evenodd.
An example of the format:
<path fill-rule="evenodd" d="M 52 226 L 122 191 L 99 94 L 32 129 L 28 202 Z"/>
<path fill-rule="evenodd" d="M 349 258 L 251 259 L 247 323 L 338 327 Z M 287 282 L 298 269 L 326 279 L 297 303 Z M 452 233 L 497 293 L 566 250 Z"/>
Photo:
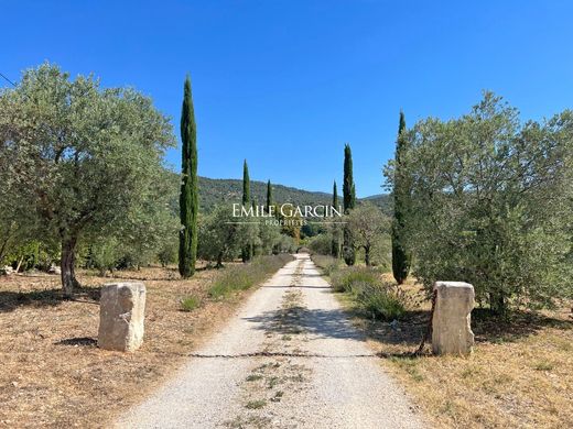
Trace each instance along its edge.
<path fill-rule="evenodd" d="M 406 138 L 407 240 L 428 288 L 468 282 L 499 312 L 573 295 L 573 112 L 521 123 L 486 92 L 468 114 Z M 392 165 L 386 174 L 391 186 Z"/>

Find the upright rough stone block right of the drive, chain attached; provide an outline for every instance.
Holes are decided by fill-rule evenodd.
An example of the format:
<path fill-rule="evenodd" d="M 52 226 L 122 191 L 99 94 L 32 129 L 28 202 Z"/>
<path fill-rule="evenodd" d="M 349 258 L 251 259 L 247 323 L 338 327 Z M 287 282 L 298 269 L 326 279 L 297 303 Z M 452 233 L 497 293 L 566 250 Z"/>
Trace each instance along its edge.
<path fill-rule="evenodd" d="M 474 345 L 471 317 L 474 286 L 463 282 L 436 282 L 432 318 L 432 350 L 435 354 L 469 354 Z"/>

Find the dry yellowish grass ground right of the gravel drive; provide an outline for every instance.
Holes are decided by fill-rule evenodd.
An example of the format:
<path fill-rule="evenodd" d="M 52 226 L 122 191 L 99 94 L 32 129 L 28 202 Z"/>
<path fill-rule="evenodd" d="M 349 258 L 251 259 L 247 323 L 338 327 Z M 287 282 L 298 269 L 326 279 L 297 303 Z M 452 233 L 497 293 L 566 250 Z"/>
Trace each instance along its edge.
<path fill-rule="evenodd" d="M 391 275 L 383 275 L 389 280 Z M 419 299 L 421 287 L 403 286 Z M 474 354 L 412 358 L 426 328 L 430 301 L 410 308 L 394 326 L 365 318 L 347 296 L 370 344 L 389 355 L 382 365 L 406 386 L 435 427 L 558 428 L 573 421 L 573 319 L 559 311 L 515 312 L 509 320 L 475 309 Z"/>

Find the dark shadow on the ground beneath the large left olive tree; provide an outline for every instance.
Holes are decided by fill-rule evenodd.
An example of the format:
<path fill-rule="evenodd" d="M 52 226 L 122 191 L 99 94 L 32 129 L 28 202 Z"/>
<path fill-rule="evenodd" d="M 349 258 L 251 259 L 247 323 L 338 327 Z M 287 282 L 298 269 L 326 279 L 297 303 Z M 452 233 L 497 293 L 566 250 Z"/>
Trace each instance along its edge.
<path fill-rule="evenodd" d="M 100 287 L 82 287 L 75 290 L 72 299 L 64 298 L 61 288 L 13 292 L 0 290 L 0 312 L 10 312 L 22 307 L 57 307 L 66 300 L 98 305 Z"/>

